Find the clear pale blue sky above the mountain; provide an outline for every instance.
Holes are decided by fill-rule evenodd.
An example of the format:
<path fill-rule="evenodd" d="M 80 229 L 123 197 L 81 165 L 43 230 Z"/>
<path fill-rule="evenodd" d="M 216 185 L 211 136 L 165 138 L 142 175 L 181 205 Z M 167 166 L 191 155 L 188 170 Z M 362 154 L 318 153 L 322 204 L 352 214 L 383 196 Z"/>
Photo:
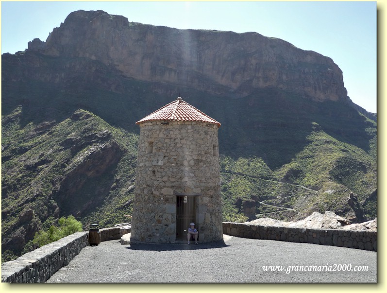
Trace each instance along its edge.
<path fill-rule="evenodd" d="M 378 2 L 379 6 L 379 2 Z M 45 41 L 76 10 L 178 29 L 257 32 L 333 59 L 354 103 L 376 113 L 376 1 L 1 1 L 1 53 Z"/>

